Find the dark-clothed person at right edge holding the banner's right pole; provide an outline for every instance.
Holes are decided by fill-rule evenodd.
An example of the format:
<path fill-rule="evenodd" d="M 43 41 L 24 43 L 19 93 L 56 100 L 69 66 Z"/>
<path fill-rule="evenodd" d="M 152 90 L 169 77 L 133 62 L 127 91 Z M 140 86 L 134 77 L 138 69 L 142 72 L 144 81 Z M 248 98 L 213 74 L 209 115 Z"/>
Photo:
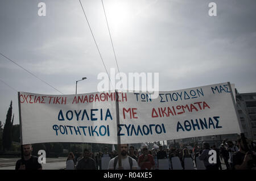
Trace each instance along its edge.
<path fill-rule="evenodd" d="M 238 139 L 239 150 L 233 155 L 233 170 L 256 170 L 256 154 L 252 151 L 250 141 L 247 138 L 245 140 L 249 149 L 246 150 L 242 139 Z"/>

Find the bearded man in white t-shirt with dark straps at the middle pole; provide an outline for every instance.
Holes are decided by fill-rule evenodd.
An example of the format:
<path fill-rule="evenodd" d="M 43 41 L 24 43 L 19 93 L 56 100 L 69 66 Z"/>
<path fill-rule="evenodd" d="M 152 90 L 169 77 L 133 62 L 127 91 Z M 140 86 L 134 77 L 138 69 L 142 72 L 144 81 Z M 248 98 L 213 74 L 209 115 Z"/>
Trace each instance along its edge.
<path fill-rule="evenodd" d="M 137 170 L 138 163 L 135 159 L 128 156 L 128 144 L 121 144 L 122 166 L 118 167 L 118 156 L 109 161 L 108 170 Z"/>

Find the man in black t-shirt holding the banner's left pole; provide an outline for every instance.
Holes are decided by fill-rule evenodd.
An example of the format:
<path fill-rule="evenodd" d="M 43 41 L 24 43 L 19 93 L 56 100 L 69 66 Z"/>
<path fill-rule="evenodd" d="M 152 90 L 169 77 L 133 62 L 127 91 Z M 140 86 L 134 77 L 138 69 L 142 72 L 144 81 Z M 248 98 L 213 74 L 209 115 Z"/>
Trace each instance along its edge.
<path fill-rule="evenodd" d="M 16 162 L 15 170 L 42 170 L 38 157 L 32 156 L 32 145 L 22 145 L 22 159 Z"/>

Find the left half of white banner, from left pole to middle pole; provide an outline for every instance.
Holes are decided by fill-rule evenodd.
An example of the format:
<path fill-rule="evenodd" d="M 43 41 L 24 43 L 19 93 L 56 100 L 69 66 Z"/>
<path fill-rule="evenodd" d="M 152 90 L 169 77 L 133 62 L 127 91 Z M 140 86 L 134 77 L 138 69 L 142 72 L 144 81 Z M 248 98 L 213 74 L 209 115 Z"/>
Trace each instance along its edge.
<path fill-rule="evenodd" d="M 77 95 L 19 92 L 22 143 L 116 144 L 115 97 L 114 92 Z"/>

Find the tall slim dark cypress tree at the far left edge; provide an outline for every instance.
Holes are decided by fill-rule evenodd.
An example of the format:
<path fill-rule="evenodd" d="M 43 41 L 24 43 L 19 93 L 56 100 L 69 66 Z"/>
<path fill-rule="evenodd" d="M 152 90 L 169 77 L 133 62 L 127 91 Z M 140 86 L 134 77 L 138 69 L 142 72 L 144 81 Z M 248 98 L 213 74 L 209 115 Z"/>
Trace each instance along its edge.
<path fill-rule="evenodd" d="M 11 132 L 13 128 L 13 121 L 11 121 L 11 115 L 13 111 L 12 107 L 13 101 L 11 101 L 9 110 L 7 111 L 6 115 L 6 121 L 5 121 L 5 127 L 3 127 L 3 150 L 10 150 L 11 148 Z M 13 115 L 13 120 L 14 120 L 14 115 Z"/>

